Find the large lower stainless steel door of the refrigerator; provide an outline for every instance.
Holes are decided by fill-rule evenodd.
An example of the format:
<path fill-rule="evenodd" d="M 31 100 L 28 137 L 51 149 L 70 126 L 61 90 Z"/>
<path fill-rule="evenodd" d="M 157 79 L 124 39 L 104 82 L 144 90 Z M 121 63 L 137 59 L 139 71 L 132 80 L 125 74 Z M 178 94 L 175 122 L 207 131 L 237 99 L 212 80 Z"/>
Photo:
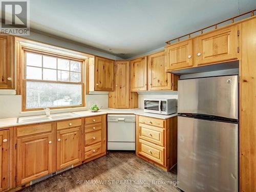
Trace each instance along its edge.
<path fill-rule="evenodd" d="M 238 124 L 178 117 L 178 187 L 238 191 Z"/>

